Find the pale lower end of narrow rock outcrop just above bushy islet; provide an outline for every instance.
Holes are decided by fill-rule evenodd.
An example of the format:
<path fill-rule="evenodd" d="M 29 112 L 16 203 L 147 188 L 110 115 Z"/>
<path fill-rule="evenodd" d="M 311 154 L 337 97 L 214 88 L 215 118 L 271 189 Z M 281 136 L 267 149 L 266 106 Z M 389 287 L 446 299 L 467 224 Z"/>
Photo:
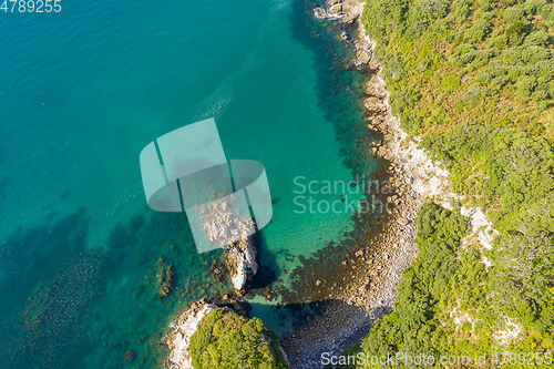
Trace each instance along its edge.
<path fill-rule="evenodd" d="M 230 271 L 230 281 L 236 291 L 244 291 L 246 283 L 258 273 L 256 254 L 252 236 L 240 239 L 227 248 L 225 263 Z"/>

